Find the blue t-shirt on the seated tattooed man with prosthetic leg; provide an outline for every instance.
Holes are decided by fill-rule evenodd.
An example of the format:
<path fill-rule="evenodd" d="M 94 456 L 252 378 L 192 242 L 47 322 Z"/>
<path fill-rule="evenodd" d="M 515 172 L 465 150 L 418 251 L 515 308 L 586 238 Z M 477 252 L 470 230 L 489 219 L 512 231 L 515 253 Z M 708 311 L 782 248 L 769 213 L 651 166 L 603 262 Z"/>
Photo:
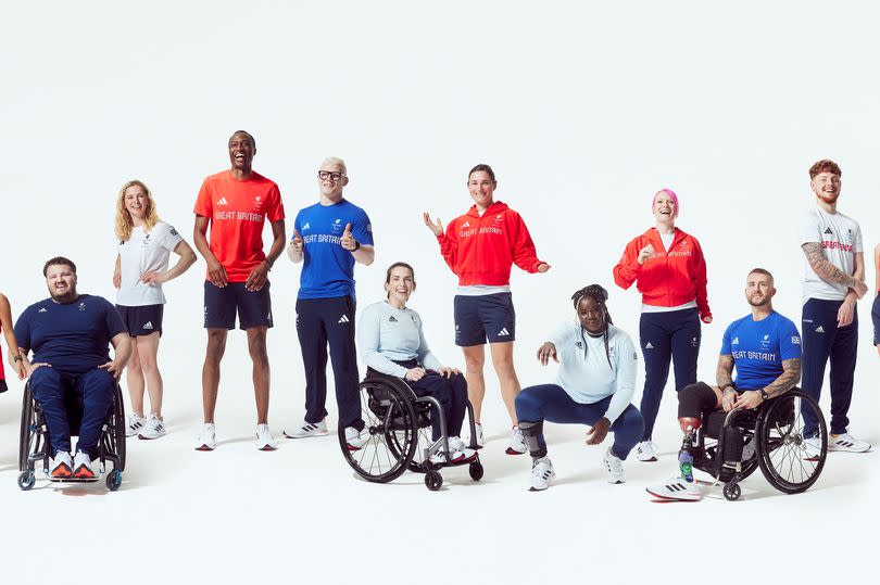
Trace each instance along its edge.
<path fill-rule="evenodd" d="M 763 389 L 782 373 L 783 359 L 800 359 L 801 333 L 775 310 L 760 321 L 746 315 L 725 331 L 721 355 L 733 356 L 737 390 Z"/>

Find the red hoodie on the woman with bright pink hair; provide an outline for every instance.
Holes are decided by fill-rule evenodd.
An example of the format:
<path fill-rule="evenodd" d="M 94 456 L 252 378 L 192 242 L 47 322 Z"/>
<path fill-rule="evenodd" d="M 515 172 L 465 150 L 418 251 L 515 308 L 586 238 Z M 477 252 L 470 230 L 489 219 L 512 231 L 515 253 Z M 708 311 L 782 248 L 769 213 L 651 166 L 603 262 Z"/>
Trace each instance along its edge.
<path fill-rule="evenodd" d="M 654 257 L 639 264 L 639 251 L 654 246 Z M 712 317 L 706 293 L 706 260 L 696 238 L 676 228 L 672 245 L 663 246 L 657 228 L 651 228 L 627 244 L 614 267 L 614 281 L 621 289 L 633 282 L 642 303 L 655 307 L 677 307 L 696 300 L 701 319 Z"/>

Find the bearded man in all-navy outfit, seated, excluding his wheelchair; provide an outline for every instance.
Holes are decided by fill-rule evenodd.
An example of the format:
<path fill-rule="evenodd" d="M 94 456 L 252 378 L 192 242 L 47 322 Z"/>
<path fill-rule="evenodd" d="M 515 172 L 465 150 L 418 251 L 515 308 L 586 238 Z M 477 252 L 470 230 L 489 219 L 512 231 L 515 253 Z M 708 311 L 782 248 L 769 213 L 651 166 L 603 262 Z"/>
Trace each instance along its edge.
<path fill-rule="evenodd" d="M 15 323 L 15 339 L 49 430 L 53 480 L 98 479 L 91 458 L 113 405 L 116 381 L 131 353 L 122 318 L 106 300 L 76 292 L 76 265 L 54 257 L 42 268 L 49 298 L 27 307 Z M 114 347 L 110 359 L 108 344 Z M 32 359 L 28 353 L 33 351 Z M 75 396 L 71 396 L 75 393 Z M 79 440 L 71 454 L 67 406 L 83 405 Z M 74 430 L 75 432 L 75 430 Z"/>

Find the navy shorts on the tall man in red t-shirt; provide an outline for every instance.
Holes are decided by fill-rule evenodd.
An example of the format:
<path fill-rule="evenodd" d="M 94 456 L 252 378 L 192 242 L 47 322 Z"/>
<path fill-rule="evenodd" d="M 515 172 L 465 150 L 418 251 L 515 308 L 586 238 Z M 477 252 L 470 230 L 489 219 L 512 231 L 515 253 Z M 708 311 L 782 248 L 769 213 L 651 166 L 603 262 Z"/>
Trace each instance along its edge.
<path fill-rule="evenodd" d="M 204 328 L 239 329 L 272 327 L 269 283 L 259 291 L 249 291 L 243 282 L 229 282 L 224 288 L 204 281 Z"/>

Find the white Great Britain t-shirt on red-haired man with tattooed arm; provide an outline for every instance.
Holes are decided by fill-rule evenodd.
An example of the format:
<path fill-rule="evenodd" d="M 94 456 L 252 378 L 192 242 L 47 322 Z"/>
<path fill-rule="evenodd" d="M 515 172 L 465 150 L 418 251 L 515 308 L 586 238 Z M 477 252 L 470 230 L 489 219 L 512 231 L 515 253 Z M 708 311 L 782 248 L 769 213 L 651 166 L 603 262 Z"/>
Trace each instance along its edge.
<path fill-rule="evenodd" d="M 842 213 L 829 214 L 816 206 L 804 218 L 801 243 L 821 243 L 825 259 L 842 272 L 852 276 L 855 271 L 855 255 L 863 252 L 862 229 L 854 219 Z M 804 257 L 804 303 L 808 298 L 843 301 L 848 288 L 827 282 L 817 275 Z"/>

